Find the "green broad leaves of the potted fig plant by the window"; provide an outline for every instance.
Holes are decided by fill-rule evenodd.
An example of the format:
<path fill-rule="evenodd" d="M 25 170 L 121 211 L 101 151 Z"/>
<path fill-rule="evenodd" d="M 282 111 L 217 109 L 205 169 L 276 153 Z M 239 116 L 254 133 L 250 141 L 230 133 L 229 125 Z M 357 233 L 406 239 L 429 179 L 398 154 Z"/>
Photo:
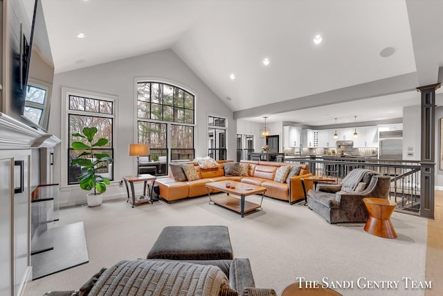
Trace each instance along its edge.
<path fill-rule="evenodd" d="M 102 147 L 108 143 L 105 138 L 95 139 L 97 128 L 84 128 L 81 133 L 73 134 L 73 137 L 82 137 L 89 142 L 89 145 L 75 141 L 72 143 L 74 150 L 85 150 L 78 155 L 77 158 L 71 161 L 71 166 L 79 165 L 82 168 L 82 173 L 78 175 L 80 180 L 80 188 L 83 190 L 94 189 L 94 194 L 105 193 L 106 185 L 109 185 L 109 179 L 98 175 L 97 171 L 102 168 L 107 168 L 106 162 L 112 162 L 112 158 L 107 153 L 93 153 L 94 147 Z M 87 156 L 87 158 L 83 158 Z M 105 163 L 105 165 L 103 165 Z M 100 166 L 99 166 L 100 164 Z"/>

